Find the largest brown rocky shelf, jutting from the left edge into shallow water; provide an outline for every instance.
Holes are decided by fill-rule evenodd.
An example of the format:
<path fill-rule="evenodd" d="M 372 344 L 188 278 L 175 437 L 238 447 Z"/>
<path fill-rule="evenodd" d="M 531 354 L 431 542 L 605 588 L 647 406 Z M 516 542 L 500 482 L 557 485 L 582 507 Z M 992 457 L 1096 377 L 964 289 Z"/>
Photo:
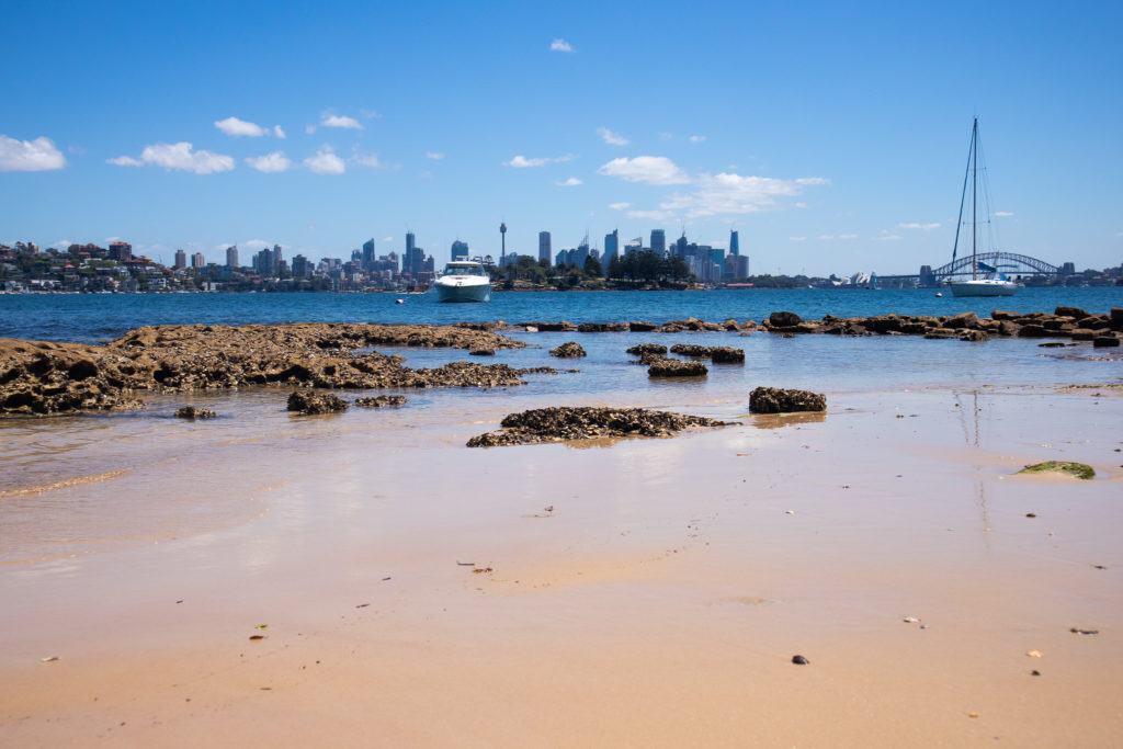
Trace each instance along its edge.
<path fill-rule="evenodd" d="M 314 389 L 494 387 L 520 384 L 505 365 L 411 369 L 373 346 L 521 348 L 462 326 L 298 323 L 157 326 L 104 346 L 0 339 L 0 415 L 137 408 L 140 391 L 248 385 Z"/>

